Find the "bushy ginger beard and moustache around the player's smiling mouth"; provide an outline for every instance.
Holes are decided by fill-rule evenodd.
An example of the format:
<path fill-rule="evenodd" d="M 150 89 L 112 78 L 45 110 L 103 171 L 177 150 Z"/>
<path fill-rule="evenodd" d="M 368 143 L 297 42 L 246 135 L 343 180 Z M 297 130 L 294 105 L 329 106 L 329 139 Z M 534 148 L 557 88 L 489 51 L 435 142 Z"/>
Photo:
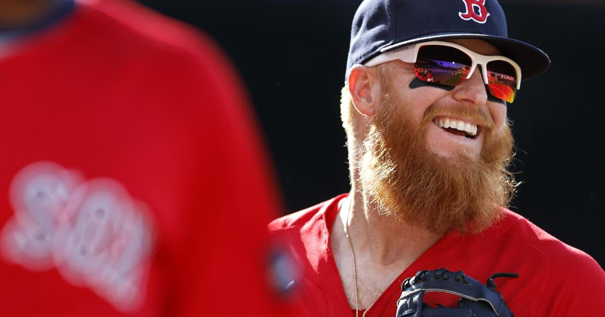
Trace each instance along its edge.
<path fill-rule="evenodd" d="M 418 124 L 412 105 L 397 104 L 388 83 L 383 87 L 386 94 L 364 139 L 359 166 L 362 188 L 379 213 L 436 233 L 479 232 L 502 217 L 515 186 L 507 169 L 513 145 L 508 123 L 496 130 L 479 109 L 433 105 Z M 473 118 L 483 127 L 479 159 L 462 152 L 444 158 L 426 148 L 428 124 L 448 114 Z"/>

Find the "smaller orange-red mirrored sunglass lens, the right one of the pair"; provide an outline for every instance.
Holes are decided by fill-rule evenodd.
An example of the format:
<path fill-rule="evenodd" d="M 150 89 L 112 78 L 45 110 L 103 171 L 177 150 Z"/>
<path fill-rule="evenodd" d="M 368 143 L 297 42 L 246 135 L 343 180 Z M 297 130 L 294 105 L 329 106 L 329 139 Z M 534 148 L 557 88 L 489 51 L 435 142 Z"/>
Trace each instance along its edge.
<path fill-rule="evenodd" d="M 511 63 L 494 60 L 488 63 L 489 93 L 499 99 L 512 103 L 517 94 L 517 72 Z"/>

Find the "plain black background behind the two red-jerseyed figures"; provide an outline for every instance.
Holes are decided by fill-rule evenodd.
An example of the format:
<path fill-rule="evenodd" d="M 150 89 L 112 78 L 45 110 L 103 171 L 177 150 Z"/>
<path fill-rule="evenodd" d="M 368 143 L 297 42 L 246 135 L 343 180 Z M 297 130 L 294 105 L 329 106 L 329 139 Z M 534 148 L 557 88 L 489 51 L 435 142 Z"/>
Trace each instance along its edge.
<path fill-rule="evenodd" d="M 339 91 L 361 1 L 140 2 L 211 34 L 234 60 L 270 146 L 287 211 L 349 190 Z M 554 2 L 501 1 L 509 36 L 552 60 L 546 74 L 523 82 L 508 107 L 518 145 L 514 170 L 523 181 L 512 210 L 603 267 L 605 4 Z"/>

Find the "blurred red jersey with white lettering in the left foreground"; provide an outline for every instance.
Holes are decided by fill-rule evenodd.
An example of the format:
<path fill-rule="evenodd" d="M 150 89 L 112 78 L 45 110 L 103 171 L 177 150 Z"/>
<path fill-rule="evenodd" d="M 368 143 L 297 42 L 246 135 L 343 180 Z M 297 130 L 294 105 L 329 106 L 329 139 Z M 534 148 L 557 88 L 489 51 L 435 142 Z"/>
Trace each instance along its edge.
<path fill-rule="evenodd" d="M 104 1 L 2 48 L 0 315 L 280 315 L 279 199 L 208 37 Z"/>

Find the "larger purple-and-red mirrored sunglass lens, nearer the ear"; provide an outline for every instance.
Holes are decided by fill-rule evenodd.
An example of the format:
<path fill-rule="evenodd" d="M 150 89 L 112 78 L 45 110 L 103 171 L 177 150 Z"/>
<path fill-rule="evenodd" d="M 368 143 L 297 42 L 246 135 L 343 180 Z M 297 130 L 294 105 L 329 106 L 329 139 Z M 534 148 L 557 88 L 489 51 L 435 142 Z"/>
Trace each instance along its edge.
<path fill-rule="evenodd" d="M 418 51 L 414 72 L 425 82 L 457 86 L 466 79 L 472 64 L 471 57 L 456 48 L 427 45 Z"/>

